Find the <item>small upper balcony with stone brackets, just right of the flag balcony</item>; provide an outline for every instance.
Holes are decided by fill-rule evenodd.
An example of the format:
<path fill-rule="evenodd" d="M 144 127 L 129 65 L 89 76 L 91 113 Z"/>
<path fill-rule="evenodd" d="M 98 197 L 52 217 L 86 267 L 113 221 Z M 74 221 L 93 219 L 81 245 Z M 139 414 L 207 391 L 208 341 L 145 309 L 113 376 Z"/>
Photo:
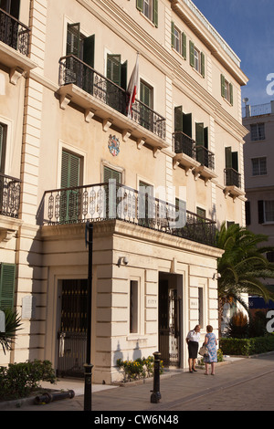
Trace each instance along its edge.
<path fill-rule="evenodd" d="M 195 140 L 178 131 L 173 134 L 174 139 L 174 163 L 179 162 L 184 166 L 185 174 L 192 170 L 195 178 L 201 176 L 205 183 L 215 178 L 215 155 L 204 146 L 196 144 Z"/>

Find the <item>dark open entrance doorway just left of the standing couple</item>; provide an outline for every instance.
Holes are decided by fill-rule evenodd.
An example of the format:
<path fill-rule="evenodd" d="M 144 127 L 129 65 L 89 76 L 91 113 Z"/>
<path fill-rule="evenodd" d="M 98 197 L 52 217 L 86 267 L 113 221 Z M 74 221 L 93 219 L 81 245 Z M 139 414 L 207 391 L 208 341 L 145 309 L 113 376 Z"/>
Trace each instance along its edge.
<path fill-rule="evenodd" d="M 159 351 L 163 365 L 181 366 L 182 298 L 178 276 L 159 274 Z M 181 295 L 182 296 L 182 295 Z"/>

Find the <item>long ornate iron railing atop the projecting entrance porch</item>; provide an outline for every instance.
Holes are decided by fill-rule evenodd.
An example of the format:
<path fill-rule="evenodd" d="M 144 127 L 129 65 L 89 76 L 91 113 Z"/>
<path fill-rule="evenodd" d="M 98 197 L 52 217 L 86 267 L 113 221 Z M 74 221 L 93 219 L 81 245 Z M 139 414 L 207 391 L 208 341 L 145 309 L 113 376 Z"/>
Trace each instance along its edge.
<path fill-rule="evenodd" d="M 47 191 L 37 218 L 38 223 L 44 225 L 119 219 L 209 246 L 216 245 L 214 221 L 115 181 Z"/>

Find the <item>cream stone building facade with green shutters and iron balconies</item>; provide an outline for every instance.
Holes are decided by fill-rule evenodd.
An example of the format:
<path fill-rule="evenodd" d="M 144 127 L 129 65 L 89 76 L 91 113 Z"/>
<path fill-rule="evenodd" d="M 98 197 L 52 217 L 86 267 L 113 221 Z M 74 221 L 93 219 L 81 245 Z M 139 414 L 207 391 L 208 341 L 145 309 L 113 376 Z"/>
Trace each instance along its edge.
<path fill-rule="evenodd" d="M 189 0 L 0 7 L 0 305 L 8 276 L 23 322 L 1 364 L 82 373 L 89 221 L 93 381 L 186 367 L 188 330 L 217 330 L 215 228 L 245 223 L 239 58 Z"/>

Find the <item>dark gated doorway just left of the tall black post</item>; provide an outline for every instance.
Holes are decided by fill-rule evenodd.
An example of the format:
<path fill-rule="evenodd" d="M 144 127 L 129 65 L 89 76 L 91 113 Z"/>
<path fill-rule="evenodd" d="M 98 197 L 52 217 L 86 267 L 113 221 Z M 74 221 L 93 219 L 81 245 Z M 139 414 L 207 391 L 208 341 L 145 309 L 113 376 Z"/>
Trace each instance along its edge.
<path fill-rule="evenodd" d="M 84 377 L 87 351 L 88 280 L 61 281 L 58 376 Z"/>

